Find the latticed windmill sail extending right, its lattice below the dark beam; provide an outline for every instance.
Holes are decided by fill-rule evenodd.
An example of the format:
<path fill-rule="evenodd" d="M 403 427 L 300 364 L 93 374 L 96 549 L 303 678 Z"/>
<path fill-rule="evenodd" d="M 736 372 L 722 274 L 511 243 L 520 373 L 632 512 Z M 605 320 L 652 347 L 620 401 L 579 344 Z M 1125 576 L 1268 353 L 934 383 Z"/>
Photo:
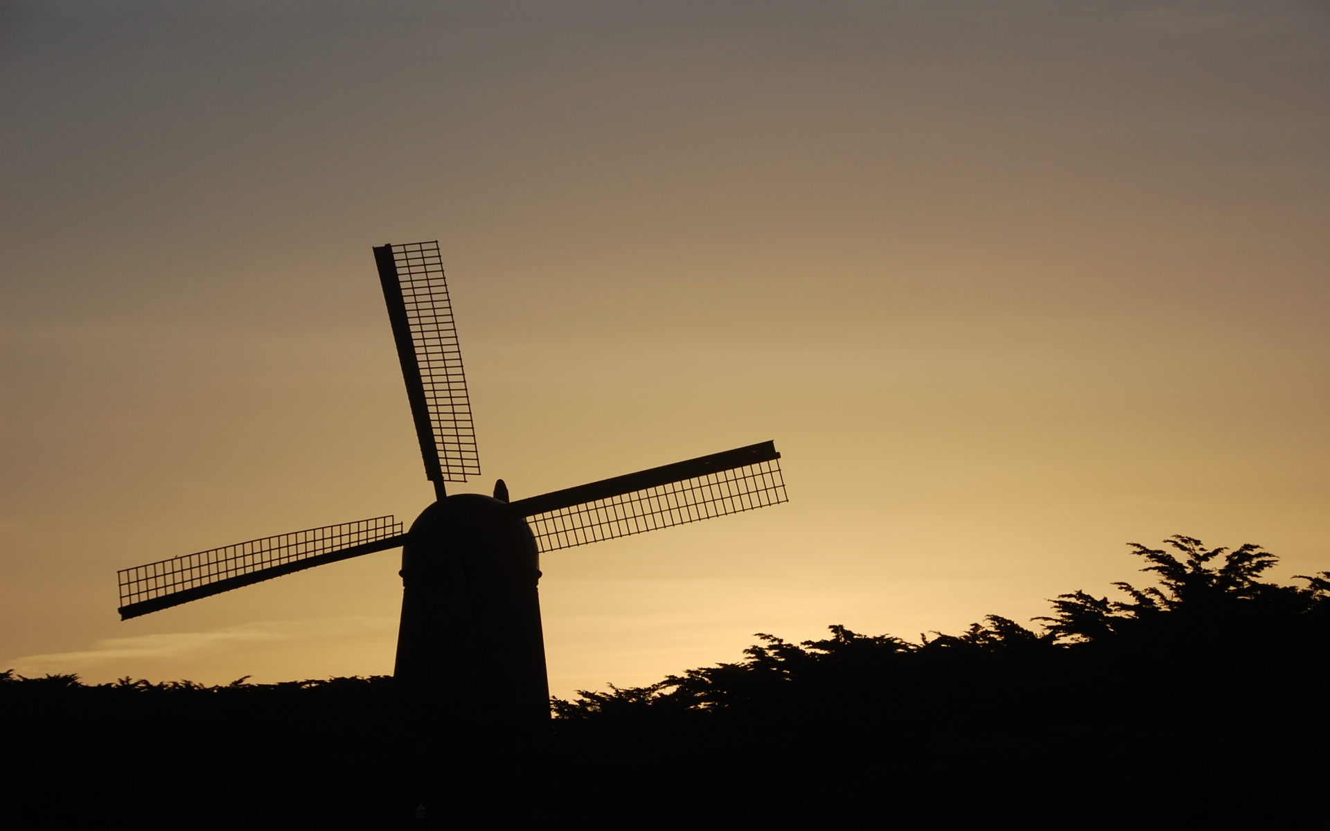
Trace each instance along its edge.
<path fill-rule="evenodd" d="M 774 441 L 512 503 L 541 552 L 789 501 Z"/>

